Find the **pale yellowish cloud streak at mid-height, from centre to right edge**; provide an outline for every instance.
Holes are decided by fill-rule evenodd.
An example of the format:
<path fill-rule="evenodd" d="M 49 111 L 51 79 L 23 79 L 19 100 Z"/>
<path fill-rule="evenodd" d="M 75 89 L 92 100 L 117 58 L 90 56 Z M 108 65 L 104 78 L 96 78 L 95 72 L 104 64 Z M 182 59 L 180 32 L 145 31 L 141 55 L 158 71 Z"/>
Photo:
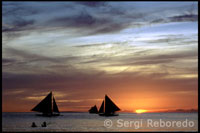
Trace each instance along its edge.
<path fill-rule="evenodd" d="M 163 42 L 164 40 L 155 40 L 156 42 Z M 152 42 L 153 43 L 153 42 Z M 166 42 L 165 42 L 166 43 Z M 178 44 L 179 45 L 179 44 Z M 83 46 L 89 49 L 91 46 Z M 95 46 L 94 46 L 95 47 Z M 99 46 L 97 46 L 99 47 Z M 125 47 L 125 46 L 124 46 Z M 100 49 L 100 48 L 98 48 Z M 112 49 L 110 49 L 112 50 Z M 121 49 L 118 52 L 125 52 L 126 49 Z M 114 66 L 148 66 L 148 65 L 159 65 L 159 64 L 169 64 L 177 62 L 181 59 L 195 59 L 197 58 L 197 51 L 194 49 L 186 51 L 174 51 L 169 53 L 161 53 L 159 50 L 151 49 L 138 49 L 132 48 L 131 53 L 121 55 L 121 56 L 106 56 L 106 55 L 96 55 L 88 57 L 87 60 L 82 60 L 80 64 L 100 64 L 101 67 L 114 67 Z M 126 53 L 126 52 L 125 52 Z M 116 55 L 116 54 L 115 54 Z M 103 64 L 101 64 L 103 63 Z"/>

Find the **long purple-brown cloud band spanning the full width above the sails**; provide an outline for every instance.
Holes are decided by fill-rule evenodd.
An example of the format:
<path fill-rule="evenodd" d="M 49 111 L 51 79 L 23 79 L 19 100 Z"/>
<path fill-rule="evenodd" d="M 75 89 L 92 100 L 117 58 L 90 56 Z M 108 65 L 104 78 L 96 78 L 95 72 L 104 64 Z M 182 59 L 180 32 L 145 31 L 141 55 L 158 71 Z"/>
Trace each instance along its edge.
<path fill-rule="evenodd" d="M 65 91 L 66 93 L 90 93 L 93 91 L 100 92 L 105 88 L 116 89 L 116 92 L 120 91 L 120 87 L 125 90 L 126 86 L 143 86 L 145 84 L 156 84 L 158 86 L 167 85 L 166 91 L 174 90 L 196 90 L 197 78 L 176 78 L 176 79 L 163 79 L 168 73 L 153 73 L 150 75 L 143 75 L 137 72 L 121 72 L 119 74 L 109 75 L 106 73 L 74 73 L 68 74 L 63 72 L 60 74 L 12 74 L 3 72 L 3 88 L 5 90 L 19 89 L 29 90 L 30 92 L 36 93 L 39 90 L 48 91 L 49 88 L 57 91 Z M 120 84 L 116 84 L 120 83 Z M 143 85 L 141 84 L 143 83 Z M 124 86 L 124 87 L 123 87 Z M 148 91 L 147 88 L 143 88 Z M 158 88 L 151 89 L 156 91 Z M 135 91 L 137 88 L 135 88 Z M 162 90 L 165 91 L 165 90 Z M 103 92 L 102 92 L 103 94 Z M 81 94 L 80 94 L 81 95 Z M 82 94 L 84 97 L 84 95 Z M 85 95 L 87 96 L 87 95 Z M 79 97 L 79 96 L 76 96 Z M 80 97 L 79 97 L 80 98 Z"/>

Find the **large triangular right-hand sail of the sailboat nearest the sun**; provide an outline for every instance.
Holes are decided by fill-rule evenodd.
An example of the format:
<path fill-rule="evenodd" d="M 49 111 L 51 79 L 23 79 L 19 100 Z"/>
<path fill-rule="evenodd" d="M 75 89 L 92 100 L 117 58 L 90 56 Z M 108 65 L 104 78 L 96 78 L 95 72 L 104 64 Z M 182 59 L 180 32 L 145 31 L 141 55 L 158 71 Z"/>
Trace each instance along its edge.
<path fill-rule="evenodd" d="M 120 108 L 118 108 L 117 105 L 115 105 L 113 101 L 106 95 L 105 96 L 105 113 L 110 114 L 119 110 Z"/>

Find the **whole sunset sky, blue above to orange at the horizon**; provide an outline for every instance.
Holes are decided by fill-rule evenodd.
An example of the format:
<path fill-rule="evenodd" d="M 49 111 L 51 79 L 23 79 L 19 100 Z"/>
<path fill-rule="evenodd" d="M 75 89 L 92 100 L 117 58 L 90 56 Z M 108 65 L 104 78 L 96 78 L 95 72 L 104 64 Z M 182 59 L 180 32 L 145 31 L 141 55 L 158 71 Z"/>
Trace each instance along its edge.
<path fill-rule="evenodd" d="M 2 2 L 2 111 L 198 108 L 197 2 Z"/>

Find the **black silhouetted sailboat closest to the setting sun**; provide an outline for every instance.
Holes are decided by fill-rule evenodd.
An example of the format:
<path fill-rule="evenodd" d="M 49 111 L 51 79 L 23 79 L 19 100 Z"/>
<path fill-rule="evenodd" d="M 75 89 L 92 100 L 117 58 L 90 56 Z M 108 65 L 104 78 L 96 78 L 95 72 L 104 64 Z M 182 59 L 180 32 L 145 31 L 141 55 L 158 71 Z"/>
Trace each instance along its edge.
<path fill-rule="evenodd" d="M 105 103 L 105 106 L 104 106 Z M 118 114 L 115 114 L 116 111 L 119 111 L 120 108 L 117 107 L 117 105 L 114 104 L 114 102 L 105 95 L 105 102 L 103 100 L 101 107 L 99 109 L 99 115 L 100 116 L 117 116 Z"/>

